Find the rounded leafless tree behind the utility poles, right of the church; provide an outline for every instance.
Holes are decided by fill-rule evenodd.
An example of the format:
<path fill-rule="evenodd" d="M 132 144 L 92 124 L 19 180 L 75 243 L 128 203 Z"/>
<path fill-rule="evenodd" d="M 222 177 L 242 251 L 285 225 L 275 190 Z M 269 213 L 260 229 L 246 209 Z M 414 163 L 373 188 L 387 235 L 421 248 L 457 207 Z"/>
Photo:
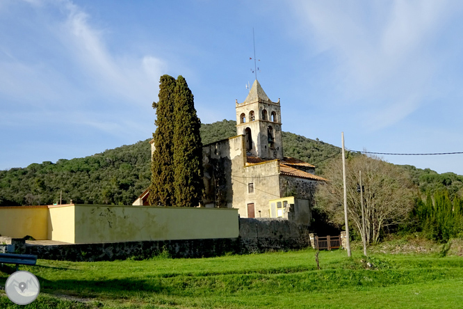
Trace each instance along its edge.
<path fill-rule="evenodd" d="M 362 171 L 366 242 L 377 242 L 383 228 L 401 223 L 407 218 L 413 207 L 416 188 L 403 170 L 378 157 L 359 155 L 348 159 L 346 164 L 349 222 L 362 235 L 362 206 L 360 193 L 357 192 L 359 171 Z M 324 174 L 329 182 L 318 186 L 316 205 L 328 214 L 333 223 L 342 225 L 341 160 L 333 160 Z"/>

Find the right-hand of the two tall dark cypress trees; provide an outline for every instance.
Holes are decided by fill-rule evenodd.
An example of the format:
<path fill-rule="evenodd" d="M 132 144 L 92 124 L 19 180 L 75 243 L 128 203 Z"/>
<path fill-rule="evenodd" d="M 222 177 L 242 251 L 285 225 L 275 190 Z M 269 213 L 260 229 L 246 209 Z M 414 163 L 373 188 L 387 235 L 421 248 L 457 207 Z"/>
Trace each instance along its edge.
<path fill-rule="evenodd" d="M 174 106 L 174 192 L 177 206 L 199 205 L 202 181 L 201 121 L 186 80 L 177 77 Z"/>

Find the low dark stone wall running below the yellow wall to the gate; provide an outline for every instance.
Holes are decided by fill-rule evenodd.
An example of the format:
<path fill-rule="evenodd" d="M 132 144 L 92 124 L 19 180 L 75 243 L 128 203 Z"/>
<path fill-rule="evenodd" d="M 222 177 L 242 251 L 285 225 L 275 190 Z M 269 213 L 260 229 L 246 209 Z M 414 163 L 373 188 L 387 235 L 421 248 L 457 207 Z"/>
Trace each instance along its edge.
<path fill-rule="evenodd" d="M 219 209 L 220 210 L 220 209 Z M 225 253 L 245 254 L 286 251 L 310 246 L 307 227 L 284 219 L 240 219 L 239 237 L 124 241 L 101 244 L 40 245 L 27 241 L 19 251 L 47 260 L 99 261 L 151 258 L 168 251 L 172 258 L 202 258 Z"/>

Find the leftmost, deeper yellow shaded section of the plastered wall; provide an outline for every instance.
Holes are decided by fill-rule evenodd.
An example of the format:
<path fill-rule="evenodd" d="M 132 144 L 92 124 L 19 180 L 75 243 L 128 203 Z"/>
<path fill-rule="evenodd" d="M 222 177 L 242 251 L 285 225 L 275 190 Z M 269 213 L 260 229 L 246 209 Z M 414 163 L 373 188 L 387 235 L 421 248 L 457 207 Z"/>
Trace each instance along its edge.
<path fill-rule="evenodd" d="M 0 235 L 47 239 L 47 206 L 0 207 Z"/>

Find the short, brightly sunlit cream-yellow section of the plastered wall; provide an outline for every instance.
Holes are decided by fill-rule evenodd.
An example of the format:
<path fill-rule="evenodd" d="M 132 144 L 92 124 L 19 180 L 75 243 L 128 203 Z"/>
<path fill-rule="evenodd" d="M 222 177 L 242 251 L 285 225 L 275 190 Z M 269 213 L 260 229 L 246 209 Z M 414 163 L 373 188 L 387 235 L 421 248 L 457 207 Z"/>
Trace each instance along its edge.
<path fill-rule="evenodd" d="M 74 244 L 75 208 L 74 205 L 49 206 L 48 239 Z"/>

